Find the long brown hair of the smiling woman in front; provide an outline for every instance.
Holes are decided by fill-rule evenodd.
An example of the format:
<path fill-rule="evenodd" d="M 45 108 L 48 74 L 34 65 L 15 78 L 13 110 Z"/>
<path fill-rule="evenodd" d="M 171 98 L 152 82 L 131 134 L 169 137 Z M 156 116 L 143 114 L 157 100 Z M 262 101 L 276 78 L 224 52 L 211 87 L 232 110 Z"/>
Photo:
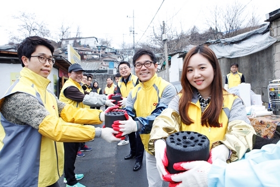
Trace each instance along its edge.
<path fill-rule="evenodd" d="M 187 115 L 187 111 L 190 106 L 191 98 L 193 95 L 193 91 L 195 88 L 188 82 L 186 78 L 187 74 L 187 63 L 194 54 L 200 54 L 205 57 L 211 64 L 214 70 L 214 77 L 211 83 L 211 101 L 205 111 L 201 116 L 201 125 L 202 126 L 210 126 L 210 127 L 219 127 L 218 117 L 220 111 L 222 109 L 223 104 L 223 96 L 222 91 L 224 90 L 222 87 L 222 77 L 221 71 L 219 67 L 218 60 L 212 50 L 210 50 L 206 46 L 196 46 L 193 47 L 185 56 L 183 62 L 182 76 L 181 76 L 181 85 L 182 90 L 180 93 L 182 94 L 179 101 L 179 113 L 181 116 L 181 120 L 184 124 L 190 125 L 193 121 Z"/>

